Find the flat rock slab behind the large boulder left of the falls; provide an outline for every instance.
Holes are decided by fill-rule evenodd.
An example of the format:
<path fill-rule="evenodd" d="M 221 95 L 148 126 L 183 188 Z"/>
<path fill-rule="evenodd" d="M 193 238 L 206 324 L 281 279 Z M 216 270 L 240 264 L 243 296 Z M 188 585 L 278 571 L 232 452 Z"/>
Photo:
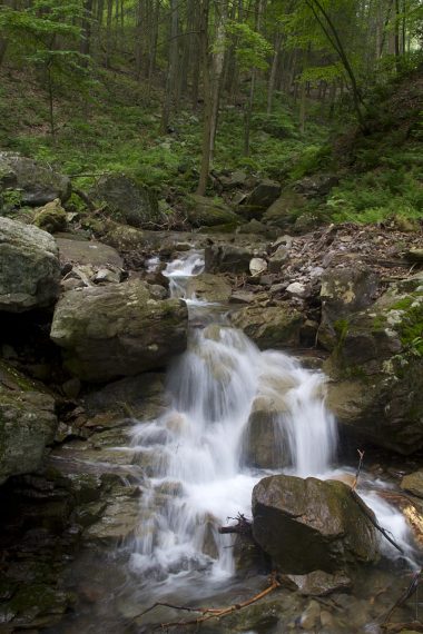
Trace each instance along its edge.
<path fill-rule="evenodd" d="M 60 262 L 79 265 L 115 265 L 120 268 L 124 260 L 118 251 L 96 240 L 75 240 L 72 238 L 56 238 L 59 247 Z"/>

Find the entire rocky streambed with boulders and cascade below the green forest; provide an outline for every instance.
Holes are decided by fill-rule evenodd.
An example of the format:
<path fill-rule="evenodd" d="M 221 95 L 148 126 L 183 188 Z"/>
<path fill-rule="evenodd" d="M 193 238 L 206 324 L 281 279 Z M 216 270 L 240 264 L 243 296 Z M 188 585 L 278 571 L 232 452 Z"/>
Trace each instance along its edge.
<path fill-rule="evenodd" d="M 269 239 L 105 226 L 88 240 L 71 224 L 52 237 L 0 218 L 0 631 L 150 632 L 183 617 L 165 607 L 139 616 L 160 597 L 239 604 L 277 571 L 272 594 L 201 630 L 381 632 L 419 568 L 423 534 L 421 234 L 342 225 Z M 194 265 L 198 275 L 178 291 L 184 275 L 164 269 L 175 260 L 184 269 L 195 254 L 205 270 Z M 169 383 L 166 369 L 187 346 Z M 323 368 L 328 382 L 303 368 Z M 341 445 L 337 457 L 333 446 L 325 454 L 331 477 L 307 478 L 298 455 L 321 418 L 327 430 L 323 393 Z M 311 428 L 299 442 L 304 403 Z M 225 457 L 232 443 L 240 479 Z M 309 444 L 305 464 L 322 443 Z M 354 506 L 357 448 L 366 450 L 357 491 L 402 556 L 372 511 Z M 183 477 L 193 455 L 197 470 Z M 210 455 L 220 475 L 228 469 L 226 497 L 194 486 Z M 148 568 L 158 528 L 169 552 L 178 501 L 187 511 L 203 498 L 215 499 L 214 514 L 201 515 L 194 555 Z M 219 537 L 237 512 L 253 518 L 247 534 Z M 404 603 L 392 621 L 416 618 L 419 606 Z"/>

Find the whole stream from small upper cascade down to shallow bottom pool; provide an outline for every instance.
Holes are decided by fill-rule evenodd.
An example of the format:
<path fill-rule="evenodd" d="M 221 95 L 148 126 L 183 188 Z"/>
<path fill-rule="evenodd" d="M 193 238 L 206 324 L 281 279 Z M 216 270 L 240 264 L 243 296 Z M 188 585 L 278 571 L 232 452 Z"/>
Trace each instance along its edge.
<path fill-rule="evenodd" d="M 157 265 L 153 261 L 151 270 Z M 138 534 L 114 552 L 86 549 L 71 564 L 69 587 L 82 579 L 99 588 L 99 596 L 79 602 L 51 634 L 94 633 L 99 623 L 106 633 L 150 632 L 156 624 L 186 617 L 158 607 L 134 621 L 155 602 L 216 606 L 253 596 L 266 587 L 267 577 L 237 574 L 234 537 L 220 535 L 219 526 L 238 514 L 250 517 L 253 487 L 266 475 L 328 479 L 355 474 L 355 467 L 337 464 L 337 429 L 325 407 L 325 376 L 304 369 L 286 354 L 260 351 L 230 327 L 227 306 L 194 294 L 187 297 L 187 280 L 203 269 L 201 254 L 188 251 L 164 271 L 171 296 L 188 305 L 190 333 L 187 351 L 167 373 L 169 407 L 157 419 L 134 424 L 128 437 L 128 450 L 145 469 L 138 481 Z M 248 466 L 247 423 L 257 398 L 283 402 L 284 414 L 275 417 L 270 469 Z M 381 537 L 381 563 L 364 571 L 354 596 L 337 595 L 342 610 L 326 628 L 316 631 L 376 634 L 376 615 L 397 598 L 393 577 L 410 576 L 419 567 L 403 515 L 377 495 L 387 487 L 370 473 L 361 474 L 358 494 L 404 556 Z M 299 632 L 297 618 L 308 603 L 281 591 L 257 604 L 249 621 L 242 611 L 238 620 L 210 622 L 201 632 Z M 416 606 L 410 610 L 409 621 Z"/>

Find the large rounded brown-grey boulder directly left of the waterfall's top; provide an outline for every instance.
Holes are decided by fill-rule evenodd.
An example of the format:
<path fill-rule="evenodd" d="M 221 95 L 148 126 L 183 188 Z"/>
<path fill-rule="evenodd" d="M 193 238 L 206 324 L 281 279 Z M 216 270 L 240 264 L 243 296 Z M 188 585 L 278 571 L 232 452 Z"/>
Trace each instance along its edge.
<path fill-rule="evenodd" d="M 51 339 L 67 369 L 82 380 L 108 382 L 164 367 L 187 343 L 187 307 L 155 299 L 140 280 L 66 293 L 56 306 Z"/>

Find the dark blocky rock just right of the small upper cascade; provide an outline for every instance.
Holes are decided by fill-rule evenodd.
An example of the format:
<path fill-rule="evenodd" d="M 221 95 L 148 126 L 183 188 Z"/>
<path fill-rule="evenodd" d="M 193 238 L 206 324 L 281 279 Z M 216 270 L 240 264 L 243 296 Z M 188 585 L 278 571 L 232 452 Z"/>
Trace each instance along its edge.
<path fill-rule="evenodd" d="M 205 250 L 205 269 L 207 273 L 249 273 L 252 258 L 265 255 L 260 247 L 212 245 Z"/>

